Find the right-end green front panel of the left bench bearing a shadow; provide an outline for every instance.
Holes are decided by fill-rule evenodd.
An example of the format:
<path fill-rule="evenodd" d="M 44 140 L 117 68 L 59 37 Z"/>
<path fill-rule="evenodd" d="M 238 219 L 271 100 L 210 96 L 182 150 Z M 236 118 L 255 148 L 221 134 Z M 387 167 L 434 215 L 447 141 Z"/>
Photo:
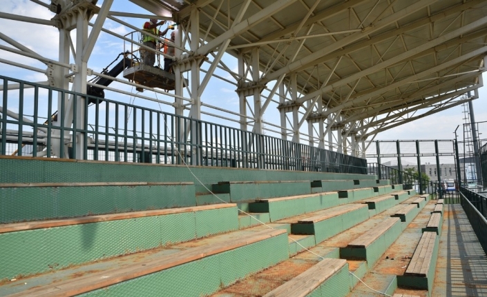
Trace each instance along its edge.
<path fill-rule="evenodd" d="M 238 229 L 237 207 L 209 209 L 195 212 L 196 236 L 204 237 L 210 234 L 228 232 Z"/>

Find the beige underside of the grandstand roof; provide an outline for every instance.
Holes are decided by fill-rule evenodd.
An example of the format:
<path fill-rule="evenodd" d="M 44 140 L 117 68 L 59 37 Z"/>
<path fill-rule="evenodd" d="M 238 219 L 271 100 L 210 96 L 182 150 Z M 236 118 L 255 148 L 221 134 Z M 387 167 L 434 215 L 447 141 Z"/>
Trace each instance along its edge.
<path fill-rule="evenodd" d="M 166 3 L 176 8 L 173 15 L 189 6 L 134 2 Z M 205 41 L 227 32 L 244 2 L 193 1 L 193 7 L 200 7 Z M 321 95 L 329 110 L 335 107 L 332 112 L 341 110 L 344 118 L 356 121 L 435 105 L 452 98 L 440 94 L 481 86 L 487 1 L 252 0 L 242 20 L 278 2 L 290 4 L 233 36 L 227 52 L 243 53 L 250 61 L 258 46 L 260 82 L 285 74 L 289 84 L 290 74 L 296 73 L 303 94 L 299 103 Z"/>

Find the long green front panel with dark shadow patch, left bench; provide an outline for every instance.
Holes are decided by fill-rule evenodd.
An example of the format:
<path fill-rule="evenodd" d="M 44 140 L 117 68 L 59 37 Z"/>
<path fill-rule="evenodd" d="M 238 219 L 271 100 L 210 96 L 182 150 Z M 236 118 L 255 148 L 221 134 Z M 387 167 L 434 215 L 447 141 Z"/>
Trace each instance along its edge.
<path fill-rule="evenodd" d="M 195 238 L 191 212 L 0 235 L 0 278 L 35 274 Z"/>

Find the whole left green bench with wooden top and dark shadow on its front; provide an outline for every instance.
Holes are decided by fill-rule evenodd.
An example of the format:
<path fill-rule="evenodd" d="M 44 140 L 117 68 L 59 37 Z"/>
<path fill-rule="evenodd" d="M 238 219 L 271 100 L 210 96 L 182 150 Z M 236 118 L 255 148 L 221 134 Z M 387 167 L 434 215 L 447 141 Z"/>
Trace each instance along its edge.
<path fill-rule="evenodd" d="M 0 225 L 0 279 L 28 276 L 238 229 L 235 204 Z"/>

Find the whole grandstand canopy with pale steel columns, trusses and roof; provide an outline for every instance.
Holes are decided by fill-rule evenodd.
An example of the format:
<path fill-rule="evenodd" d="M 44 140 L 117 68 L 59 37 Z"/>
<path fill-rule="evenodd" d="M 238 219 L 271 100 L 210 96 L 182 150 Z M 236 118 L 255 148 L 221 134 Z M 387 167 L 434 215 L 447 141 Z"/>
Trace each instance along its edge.
<path fill-rule="evenodd" d="M 55 17 L 35 19 L 4 12 L 0 17 L 57 27 L 59 59 L 41 57 L 17 42 L 15 34 L 3 32 L 0 39 L 10 46 L 0 45 L 0 50 L 39 59 L 48 71 L 30 69 L 19 61 L 0 62 L 46 72 L 53 87 L 81 93 L 90 85 L 88 74 L 113 79 L 89 68 L 100 32 L 126 39 L 104 28 L 105 21 L 140 32 L 120 17 L 149 18 L 111 11 L 113 0 L 99 5 L 93 0 L 32 1 L 50 8 Z M 242 130 L 261 134 L 269 130 L 283 139 L 365 156 L 365 141 L 373 141 L 379 132 L 477 99 L 483 85 L 486 1 L 131 2 L 157 19 L 180 24 L 175 57 L 166 56 L 175 61 L 175 90 L 155 92 L 174 98 L 168 104 L 175 114 L 186 112 L 193 119 L 201 118 L 204 106 L 226 112 L 218 117 L 239 123 Z M 95 14 L 96 21 L 90 23 Z M 70 32 L 75 32 L 75 45 Z M 222 61 L 225 53 L 238 59 L 238 72 Z M 215 75 L 216 69 L 228 72 L 229 78 Z M 202 96 L 211 92 L 210 79 L 236 86 L 238 110 L 202 103 Z M 68 98 L 63 106 L 73 108 Z M 280 123 L 264 120 L 269 107 L 278 108 Z M 77 112 L 76 123 L 82 125 L 82 105 Z"/>

